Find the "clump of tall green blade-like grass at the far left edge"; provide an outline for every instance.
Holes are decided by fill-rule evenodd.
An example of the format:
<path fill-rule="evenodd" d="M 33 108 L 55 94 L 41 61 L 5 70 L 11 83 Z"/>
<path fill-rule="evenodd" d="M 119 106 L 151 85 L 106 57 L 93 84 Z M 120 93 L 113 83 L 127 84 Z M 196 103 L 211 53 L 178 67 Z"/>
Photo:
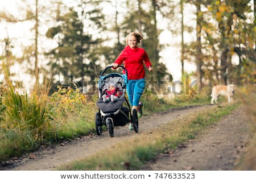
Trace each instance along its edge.
<path fill-rule="evenodd" d="M 2 104 L 6 107 L 2 124 L 9 129 L 29 129 L 32 134 L 40 135 L 47 125 L 46 104 L 35 94 L 28 97 L 27 93 L 21 95 L 10 87 L 2 98 Z"/>

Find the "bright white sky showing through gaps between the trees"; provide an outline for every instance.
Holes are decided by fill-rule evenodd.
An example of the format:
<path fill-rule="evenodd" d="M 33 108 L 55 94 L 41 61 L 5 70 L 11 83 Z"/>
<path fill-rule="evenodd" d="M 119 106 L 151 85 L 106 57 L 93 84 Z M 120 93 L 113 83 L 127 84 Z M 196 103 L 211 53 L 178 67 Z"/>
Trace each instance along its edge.
<path fill-rule="evenodd" d="M 31 0 L 34 1 L 34 0 Z M 0 10 L 8 10 L 11 14 L 17 14 L 17 4 L 19 0 L 9 0 L 9 1 L 1 1 Z M 72 3 L 72 0 L 64 0 L 65 3 Z M 108 7 L 106 7 L 106 11 L 108 11 Z M 192 11 L 193 9 L 189 9 L 188 11 Z M 186 14 L 189 14 L 188 11 L 186 11 Z M 187 15 L 189 18 L 190 16 Z M 187 17 L 187 18 L 188 18 Z M 187 22 L 185 20 L 185 23 L 189 23 L 191 20 L 187 19 Z M 22 23 L 15 23 L 10 24 L 6 22 L 0 22 L 0 51 L 2 53 L 5 44 L 3 43 L 3 39 L 8 34 L 9 38 L 12 40 L 12 44 L 15 44 L 15 49 L 11 49 L 13 54 L 15 56 L 21 56 L 21 49 L 19 47 L 28 46 L 31 44 L 31 28 L 34 26 L 33 24 L 22 22 Z M 159 36 L 160 43 L 170 44 L 169 47 L 166 47 L 163 49 L 162 52 L 160 52 L 160 62 L 166 64 L 166 67 L 168 68 L 168 71 L 171 73 L 171 75 L 174 77 L 175 80 L 181 79 L 181 63 L 180 63 L 180 46 L 177 46 L 177 44 L 180 44 L 181 36 L 172 35 L 171 32 L 167 31 L 167 23 L 166 22 L 158 22 L 159 28 L 163 29 L 163 33 Z M 41 28 L 40 31 L 46 31 L 47 27 Z M 184 40 L 189 41 L 191 40 L 191 37 L 195 37 L 191 34 L 185 34 Z M 43 45 L 43 48 L 47 48 L 49 46 L 54 46 L 53 42 L 49 42 L 50 40 L 39 40 L 39 44 Z M 40 51 L 40 50 L 39 50 Z M 43 66 L 43 65 L 42 65 Z M 15 68 L 19 69 L 19 68 Z M 184 69 L 187 72 L 195 71 L 195 66 L 192 64 L 185 63 Z M 25 79 L 28 79 L 25 73 L 19 72 L 19 75 Z M 0 77 L 1 79 L 1 77 Z"/>

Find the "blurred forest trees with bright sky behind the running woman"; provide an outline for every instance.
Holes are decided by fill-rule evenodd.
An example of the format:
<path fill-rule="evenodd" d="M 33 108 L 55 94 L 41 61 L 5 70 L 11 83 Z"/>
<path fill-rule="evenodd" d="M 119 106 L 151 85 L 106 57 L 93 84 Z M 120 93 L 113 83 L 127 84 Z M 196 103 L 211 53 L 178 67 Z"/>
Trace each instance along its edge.
<path fill-rule="evenodd" d="M 62 80 L 80 81 L 87 92 L 131 31 L 144 36 L 155 68 L 147 80 L 158 88 L 188 72 L 199 90 L 255 82 L 255 1 L 11 2 L 0 13 L 1 62 L 16 86 L 30 85 L 27 92 Z M 13 31 L 22 34 L 10 38 Z"/>

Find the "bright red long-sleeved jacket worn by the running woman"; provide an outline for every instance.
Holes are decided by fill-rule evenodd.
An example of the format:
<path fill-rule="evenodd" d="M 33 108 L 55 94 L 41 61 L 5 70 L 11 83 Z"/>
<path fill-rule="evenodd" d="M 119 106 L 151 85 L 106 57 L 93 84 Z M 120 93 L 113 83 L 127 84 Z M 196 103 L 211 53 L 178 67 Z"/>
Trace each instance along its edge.
<path fill-rule="evenodd" d="M 130 48 L 130 46 L 125 46 L 114 63 L 117 63 L 118 65 L 123 63 L 123 67 L 127 69 L 128 80 L 138 80 L 145 77 L 143 63 L 147 68 L 152 66 L 147 52 L 144 51 L 143 48 L 137 47 L 133 49 Z M 125 73 L 124 70 L 123 73 Z"/>

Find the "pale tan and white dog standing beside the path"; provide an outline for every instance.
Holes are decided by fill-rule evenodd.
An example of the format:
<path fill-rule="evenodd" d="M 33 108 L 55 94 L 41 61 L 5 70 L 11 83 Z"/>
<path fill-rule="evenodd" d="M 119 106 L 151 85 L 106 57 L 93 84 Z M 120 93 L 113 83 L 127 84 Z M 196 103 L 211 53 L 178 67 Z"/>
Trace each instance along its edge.
<path fill-rule="evenodd" d="M 210 104 L 218 104 L 217 99 L 218 96 L 228 96 L 228 102 L 233 101 L 234 92 L 236 91 L 236 85 L 230 84 L 230 85 L 216 85 L 212 88 L 212 100 L 210 101 Z"/>

